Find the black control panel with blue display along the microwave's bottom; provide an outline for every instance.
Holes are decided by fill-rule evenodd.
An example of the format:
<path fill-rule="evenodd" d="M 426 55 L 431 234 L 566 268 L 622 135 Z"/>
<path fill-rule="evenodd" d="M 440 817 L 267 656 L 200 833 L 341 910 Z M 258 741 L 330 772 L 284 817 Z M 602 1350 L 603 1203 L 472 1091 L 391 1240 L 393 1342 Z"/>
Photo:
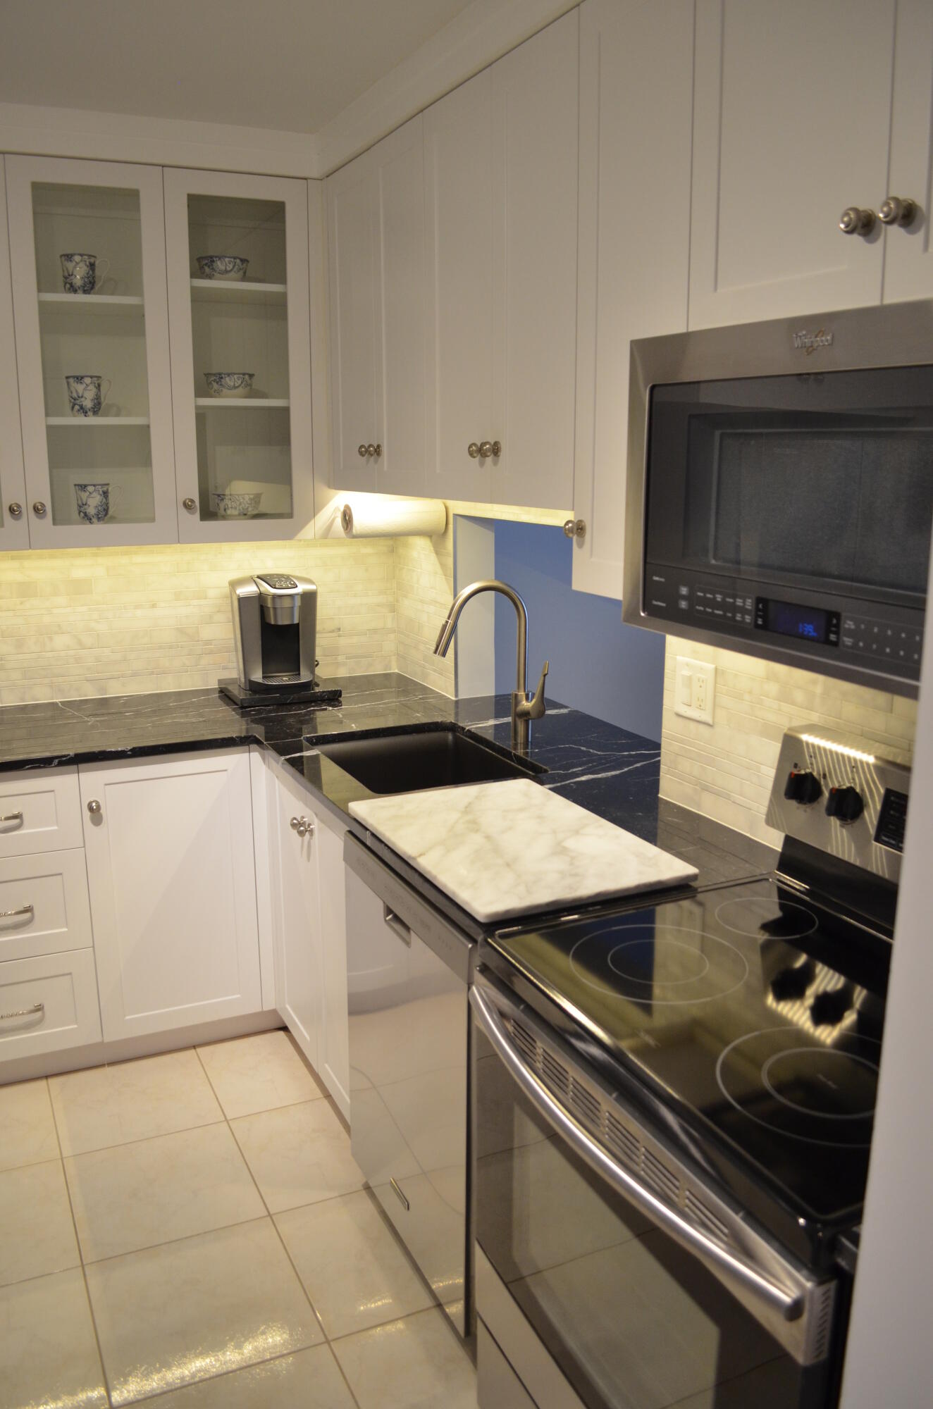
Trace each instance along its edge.
<path fill-rule="evenodd" d="M 761 644 L 853 669 L 920 679 L 923 610 L 843 596 L 775 589 L 770 583 L 712 578 L 685 568 L 648 564 L 643 607 L 648 619 L 669 623 L 676 634 L 691 628 L 731 638 L 724 645 Z"/>

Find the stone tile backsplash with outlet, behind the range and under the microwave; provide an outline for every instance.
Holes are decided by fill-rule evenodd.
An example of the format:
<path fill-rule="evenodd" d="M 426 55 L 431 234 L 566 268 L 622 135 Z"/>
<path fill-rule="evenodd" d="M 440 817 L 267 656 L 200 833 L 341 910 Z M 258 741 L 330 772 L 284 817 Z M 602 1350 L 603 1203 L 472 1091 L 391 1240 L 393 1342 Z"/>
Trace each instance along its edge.
<path fill-rule="evenodd" d="M 712 727 L 674 712 L 676 657 L 716 666 Z M 664 661 L 661 795 L 778 845 L 765 826 L 778 745 L 792 724 L 844 728 L 910 764 L 916 700 L 668 637 Z"/>

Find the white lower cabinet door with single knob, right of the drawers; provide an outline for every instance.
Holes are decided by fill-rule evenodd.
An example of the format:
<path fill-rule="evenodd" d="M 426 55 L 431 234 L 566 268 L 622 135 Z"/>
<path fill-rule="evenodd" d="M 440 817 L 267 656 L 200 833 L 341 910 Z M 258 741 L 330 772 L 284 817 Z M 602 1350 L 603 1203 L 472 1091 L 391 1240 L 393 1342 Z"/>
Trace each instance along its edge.
<path fill-rule="evenodd" d="M 248 750 L 80 768 L 106 1041 L 259 1012 Z"/>

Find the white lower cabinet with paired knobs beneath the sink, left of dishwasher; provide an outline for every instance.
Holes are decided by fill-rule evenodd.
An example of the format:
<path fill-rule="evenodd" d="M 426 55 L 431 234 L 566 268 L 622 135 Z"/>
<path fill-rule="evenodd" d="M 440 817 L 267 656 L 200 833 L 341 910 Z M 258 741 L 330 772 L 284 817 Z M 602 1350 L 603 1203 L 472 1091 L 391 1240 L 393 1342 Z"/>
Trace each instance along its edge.
<path fill-rule="evenodd" d="M 266 776 L 276 1007 L 350 1119 L 344 828 L 311 807 L 296 774 Z"/>

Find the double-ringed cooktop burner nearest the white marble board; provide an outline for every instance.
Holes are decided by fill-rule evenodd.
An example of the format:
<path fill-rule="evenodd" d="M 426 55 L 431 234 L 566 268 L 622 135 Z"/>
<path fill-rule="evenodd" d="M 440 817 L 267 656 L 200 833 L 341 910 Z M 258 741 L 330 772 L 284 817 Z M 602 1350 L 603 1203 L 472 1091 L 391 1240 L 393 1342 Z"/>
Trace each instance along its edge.
<path fill-rule="evenodd" d="M 617 944 L 606 948 L 606 941 L 612 934 L 619 934 L 620 940 Z M 676 938 L 676 936 L 684 936 L 684 938 Z M 708 947 L 709 952 L 702 950 L 696 943 L 688 943 L 688 936 L 699 940 Z M 610 969 L 616 982 L 602 981 L 586 968 L 579 951 L 588 944 L 599 945 L 602 950 L 599 952 L 599 962 Z M 645 978 L 640 978 L 631 974 L 631 971 L 626 972 L 619 967 L 619 961 L 613 962 L 620 950 L 631 950 L 636 945 L 643 947 L 645 952 L 645 968 L 648 971 Z M 681 951 L 678 955 L 681 964 L 682 954 L 686 950 L 700 958 L 703 967 L 696 974 L 688 974 L 686 978 L 658 978 L 654 972 L 658 954 L 671 955 L 674 950 Z M 712 961 L 710 954 L 715 955 Z M 651 964 L 650 968 L 648 962 Z M 576 976 L 598 993 L 607 993 L 610 998 L 622 998 L 633 1003 L 651 1003 L 651 1006 L 661 1007 L 678 1003 L 716 1002 L 741 988 L 748 978 L 748 961 L 734 944 L 730 944 L 729 940 L 717 934 L 709 934 L 706 930 L 698 930 L 689 924 L 664 924 L 661 933 L 658 933 L 658 926 L 651 923 L 619 924 L 612 930 L 585 934 L 571 948 L 569 964 Z M 698 992 L 696 986 L 703 985 L 703 982 L 712 982 L 715 991 L 706 993 Z"/>

